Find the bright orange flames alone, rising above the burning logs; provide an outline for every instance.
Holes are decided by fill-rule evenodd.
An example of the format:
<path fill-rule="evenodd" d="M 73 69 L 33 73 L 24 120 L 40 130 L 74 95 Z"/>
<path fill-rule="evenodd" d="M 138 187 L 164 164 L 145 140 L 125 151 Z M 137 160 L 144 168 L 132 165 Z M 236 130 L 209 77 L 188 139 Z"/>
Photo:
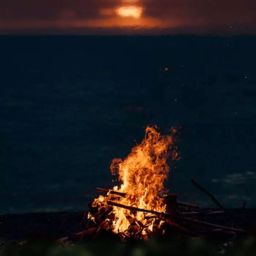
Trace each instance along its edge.
<path fill-rule="evenodd" d="M 145 138 L 132 148 L 131 153 L 124 160 L 115 158 L 110 166 L 113 175 L 118 174 L 121 186 L 113 188 L 114 191 L 126 193 L 125 197 L 116 197 L 116 202 L 126 206 L 143 208 L 158 212 L 165 212 L 166 204 L 159 193 L 163 192 L 163 182 L 167 179 L 169 166 L 166 161 L 172 155 L 177 158 L 176 147 L 173 146 L 172 135 L 161 135 L 157 127 L 147 127 Z M 176 130 L 173 129 L 174 132 Z M 106 206 L 111 195 L 99 196 L 94 200 L 93 206 Z M 155 219 L 146 219 L 151 213 L 136 212 L 113 206 L 115 219 L 111 229 L 114 233 L 125 232 L 129 229 L 128 216 L 139 221 L 148 230 L 153 231 Z M 157 226 L 161 226 L 162 222 Z M 142 232 L 145 234 L 145 230 Z"/>

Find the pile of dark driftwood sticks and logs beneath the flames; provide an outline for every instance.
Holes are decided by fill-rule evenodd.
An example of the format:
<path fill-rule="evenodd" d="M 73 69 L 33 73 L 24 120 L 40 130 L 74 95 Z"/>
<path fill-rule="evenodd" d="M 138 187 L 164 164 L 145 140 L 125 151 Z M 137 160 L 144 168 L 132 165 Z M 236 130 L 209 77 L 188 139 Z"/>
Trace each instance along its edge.
<path fill-rule="evenodd" d="M 234 216 L 228 210 L 226 210 L 210 192 L 201 187 L 195 180 L 191 180 L 192 183 L 201 191 L 206 193 L 212 201 L 218 206 L 219 209 L 201 209 L 195 204 L 183 203 L 177 201 L 177 195 L 165 195 L 164 200 L 166 203 L 166 212 L 150 211 L 141 208 L 125 206 L 117 203 L 118 197 L 125 197 L 125 193 L 112 191 L 109 189 L 97 188 L 100 193 L 109 193 L 111 195 L 110 200 L 107 202 L 107 206 L 93 207 L 89 204 L 89 211 L 84 217 L 85 229 L 79 233 L 76 233 L 69 237 L 64 237 L 58 240 L 61 244 L 75 243 L 77 241 L 93 241 L 97 238 L 109 238 L 112 237 L 118 240 L 148 240 L 150 237 L 173 237 L 178 236 L 182 240 L 190 241 L 194 238 L 218 238 L 223 241 L 233 241 L 235 237 L 244 237 L 250 234 L 249 231 L 241 229 L 234 224 Z M 113 214 L 113 206 L 125 208 L 129 210 L 131 215 L 127 215 L 130 226 L 128 230 L 123 233 L 114 234 L 111 230 L 112 222 L 115 218 Z M 244 209 L 245 203 L 243 207 Z M 150 216 L 145 218 L 154 218 L 153 231 L 144 226 L 143 223 L 133 218 L 134 213 L 144 212 Z M 219 225 L 218 216 L 225 215 L 226 220 L 232 222 L 233 226 Z M 223 216 L 222 216 L 223 217 Z M 212 220 L 212 222 L 205 220 Z M 223 218 L 222 218 L 223 219 Z M 234 221 L 233 221 L 234 220 Z M 161 225 L 160 222 L 162 223 Z"/>

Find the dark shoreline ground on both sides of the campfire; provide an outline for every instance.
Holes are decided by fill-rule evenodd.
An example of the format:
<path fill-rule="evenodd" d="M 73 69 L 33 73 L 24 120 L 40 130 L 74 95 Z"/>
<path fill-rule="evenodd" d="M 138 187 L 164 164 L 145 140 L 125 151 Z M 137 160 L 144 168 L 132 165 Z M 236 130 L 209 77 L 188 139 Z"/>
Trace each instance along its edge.
<path fill-rule="evenodd" d="M 228 209 L 227 214 L 198 217 L 218 225 L 240 228 L 256 227 L 256 208 Z M 85 212 L 45 212 L 0 215 L 0 242 L 20 242 L 31 236 L 47 237 L 53 240 L 70 236 L 83 230 Z"/>

